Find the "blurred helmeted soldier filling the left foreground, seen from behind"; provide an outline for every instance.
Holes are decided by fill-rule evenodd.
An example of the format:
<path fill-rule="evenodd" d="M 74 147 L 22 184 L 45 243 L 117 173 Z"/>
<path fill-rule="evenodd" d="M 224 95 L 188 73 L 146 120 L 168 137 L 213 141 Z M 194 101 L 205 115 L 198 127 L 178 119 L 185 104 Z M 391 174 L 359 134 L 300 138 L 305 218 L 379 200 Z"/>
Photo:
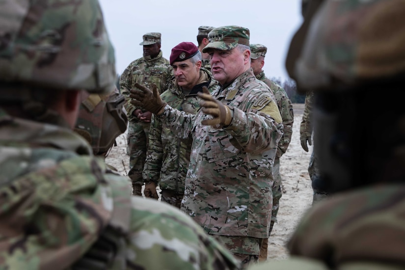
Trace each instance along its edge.
<path fill-rule="evenodd" d="M 114 87 L 98 1 L 3 0 L 0 26 L 0 268 L 237 268 L 188 216 L 132 196 L 72 130 L 81 91 Z"/>

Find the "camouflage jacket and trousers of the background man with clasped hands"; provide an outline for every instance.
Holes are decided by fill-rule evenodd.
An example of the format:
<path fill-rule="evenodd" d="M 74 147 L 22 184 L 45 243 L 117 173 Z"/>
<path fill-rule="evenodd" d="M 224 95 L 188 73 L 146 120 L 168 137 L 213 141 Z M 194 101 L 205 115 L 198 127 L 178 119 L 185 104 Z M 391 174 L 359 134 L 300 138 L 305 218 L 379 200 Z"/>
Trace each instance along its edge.
<path fill-rule="evenodd" d="M 162 93 L 166 89 L 167 81 L 172 76 L 173 68 L 170 66 L 169 60 L 164 58 L 162 51 L 160 51 L 155 58 L 143 56 L 131 62 L 120 78 L 121 93 L 126 100 L 125 109 L 129 120 L 127 140 L 130 171 L 128 176 L 133 184 L 139 187 L 143 184 L 142 170 L 146 160 L 150 123 L 139 122 L 133 115 L 136 108 L 130 103 L 130 90 L 134 88 L 136 82 L 150 88 L 155 83 L 159 92 Z M 142 109 L 142 111 L 145 110 Z"/>

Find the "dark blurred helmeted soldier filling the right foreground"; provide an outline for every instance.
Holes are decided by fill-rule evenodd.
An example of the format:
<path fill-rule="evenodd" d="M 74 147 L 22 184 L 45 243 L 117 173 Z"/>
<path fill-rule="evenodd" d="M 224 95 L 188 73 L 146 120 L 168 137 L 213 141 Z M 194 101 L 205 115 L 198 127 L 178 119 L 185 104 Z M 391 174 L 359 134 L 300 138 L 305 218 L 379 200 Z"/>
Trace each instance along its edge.
<path fill-rule="evenodd" d="M 316 4 L 287 67 L 300 92 L 314 91 L 314 148 L 333 196 L 298 224 L 291 259 L 252 269 L 404 269 L 405 1 Z"/>

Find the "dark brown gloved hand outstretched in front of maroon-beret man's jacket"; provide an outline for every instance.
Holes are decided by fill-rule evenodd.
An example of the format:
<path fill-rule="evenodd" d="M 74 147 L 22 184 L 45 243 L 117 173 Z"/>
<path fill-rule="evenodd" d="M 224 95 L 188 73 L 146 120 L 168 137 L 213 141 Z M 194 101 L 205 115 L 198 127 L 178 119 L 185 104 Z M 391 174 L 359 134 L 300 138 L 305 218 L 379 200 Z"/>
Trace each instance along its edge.
<path fill-rule="evenodd" d="M 130 97 L 132 98 L 131 104 L 136 107 L 142 107 L 146 110 L 153 112 L 157 115 L 163 112 L 164 106 L 167 103 L 163 102 L 158 91 L 156 84 L 152 84 L 153 92 L 139 83 L 135 83 L 135 87 L 138 89 L 131 89 Z"/>

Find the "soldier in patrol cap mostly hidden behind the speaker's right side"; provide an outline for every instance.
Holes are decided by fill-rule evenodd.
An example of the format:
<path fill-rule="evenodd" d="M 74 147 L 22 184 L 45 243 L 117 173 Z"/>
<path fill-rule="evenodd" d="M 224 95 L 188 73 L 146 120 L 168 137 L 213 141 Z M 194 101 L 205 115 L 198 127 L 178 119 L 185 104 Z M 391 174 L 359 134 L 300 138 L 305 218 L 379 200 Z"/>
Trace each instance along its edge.
<path fill-rule="evenodd" d="M 279 202 L 282 196 L 281 191 L 281 174 L 280 174 L 280 158 L 287 151 L 288 146 L 291 142 L 291 136 L 293 135 L 293 123 L 294 123 L 294 111 L 293 104 L 288 98 L 287 93 L 284 88 L 266 78 L 263 71 L 263 66 L 265 64 L 265 57 L 267 53 L 267 47 L 262 44 L 250 44 L 250 67 L 253 69 L 253 73 L 256 79 L 263 81 L 269 86 L 270 90 L 273 92 L 275 100 L 277 102 L 277 107 L 280 111 L 281 118 L 283 119 L 283 136 L 278 142 L 277 153 L 275 155 L 273 164 L 273 186 L 271 192 L 273 194 L 273 206 L 271 209 L 271 223 L 269 236 L 271 230 L 273 229 L 274 222 L 277 222 L 277 213 L 279 209 Z M 260 261 L 265 261 L 267 259 L 267 248 L 269 239 L 263 240 L 262 247 L 260 248 Z"/>

